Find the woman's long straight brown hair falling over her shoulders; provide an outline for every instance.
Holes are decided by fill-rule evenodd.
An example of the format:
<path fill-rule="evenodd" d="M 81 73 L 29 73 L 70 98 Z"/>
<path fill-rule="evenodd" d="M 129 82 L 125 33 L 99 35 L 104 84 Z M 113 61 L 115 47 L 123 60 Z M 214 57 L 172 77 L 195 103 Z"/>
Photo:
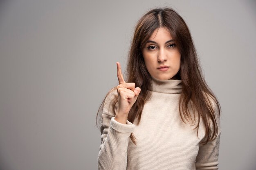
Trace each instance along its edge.
<path fill-rule="evenodd" d="M 130 109 L 128 121 L 133 123 L 137 117 L 139 124 L 144 104 L 151 96 L 151 91 L 148 89 L 152 88 L 152 80 L 144 63 L 142 48 L 146 45 L 146 41 L 155 29 L 160 27 L 164 27 L 170 32 L 181 54 L 180 70 L 175 77 L 182 80 L 182 93 L 179 99 L 179 111 L 182 121 L 186 123 L 186 121 L 192 120 L 193 122 L 189 111 L 189 108 L 193 106 L 194 118 L 198 118 L 198 124 L 195 128 L 199 129 L 200 118 L 202 118 L 205 125 L 205 141 L 201 141 L 201 143 L 207 144 L 207 142 L 216 139 L 218 134 L 216 116 L 220 116 L 220 103 L 202 76 L 198 55 L 188 26 L 182 17 L 170 7 L 151 9 L 140 18 L 135 27 L 128 54 L 125 80 L 126 82 L 135 83 L 136 87 L 141 88 L 141 92 Z M 116 90 L 116 87 L 112 88 L 108 94 L 113 90 Z M 97 121 L 101 120 L 102 107 L 106 97 L 97 113 L 97 126 Z M 116 95 L 111 102 L 114 113 L 114 107 L 117 102 Z M 196 112 L 197 114 L 195 114 Z M 98 116 L 100 117 L 98 118 Z M 213 128 L 211 128 L 211 125 Z M 132 133 L 130 139 L 136 144 Z"/>

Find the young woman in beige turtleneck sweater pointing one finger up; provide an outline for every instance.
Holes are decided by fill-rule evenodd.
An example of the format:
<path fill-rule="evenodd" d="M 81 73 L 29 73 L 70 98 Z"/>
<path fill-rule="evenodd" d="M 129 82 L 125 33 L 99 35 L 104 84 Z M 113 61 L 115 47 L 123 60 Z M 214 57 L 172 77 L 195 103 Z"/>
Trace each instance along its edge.
<path fill-rule="evenodd" d="M 97 113 L 99 169 L 218 169 L 220 104 L 177 12 L 157 8 L 141 17 L 126 71 L 124 81 L 117 62 L 119 85 Z"/>

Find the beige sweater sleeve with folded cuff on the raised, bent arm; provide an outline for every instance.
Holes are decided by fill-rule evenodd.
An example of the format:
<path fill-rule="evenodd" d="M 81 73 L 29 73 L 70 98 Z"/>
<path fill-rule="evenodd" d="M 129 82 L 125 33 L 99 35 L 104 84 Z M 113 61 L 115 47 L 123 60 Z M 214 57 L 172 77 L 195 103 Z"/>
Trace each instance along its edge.
<path fill-rule="evenodd" d="M 117 92 L 116 92 L 117 93 Z M 101 115 L 101 145 L 98 154 L 99 170 L 125 170 L 127 165 L 127 148 L 130 134 L 135 128 L 128 120 L 122 124 L 115 120 L 111 101 L 114 98 L 110 92 L 103 104 Z M 115 111 L 117 105 L 115 106 Z"/>

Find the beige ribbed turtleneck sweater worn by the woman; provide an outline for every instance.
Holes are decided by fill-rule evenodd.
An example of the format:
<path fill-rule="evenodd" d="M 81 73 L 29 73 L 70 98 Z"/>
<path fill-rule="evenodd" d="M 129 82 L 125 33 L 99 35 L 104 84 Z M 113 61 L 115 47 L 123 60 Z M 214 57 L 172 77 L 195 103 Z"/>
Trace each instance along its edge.
<path fill-rule="evenodd" d="M 196 124 L 185 124 L 180 118 L 181 82 L 153 78 L 152 96 L 144 106 L 139 125 L 137 119 L 133 123 L 127 120 L 127 124 L 117 122 L 110 105 L 117 91 L 107 96 L 100 124 L 99 170 L 218 169 L 220 118 L 216 116 L 217 138 L 206 145 L 200 144 L 205 136 L 202 119 L 197 136 L 197 129 L 193 129 Z M 137 145 L 129 137 L 131 132 Z"/>

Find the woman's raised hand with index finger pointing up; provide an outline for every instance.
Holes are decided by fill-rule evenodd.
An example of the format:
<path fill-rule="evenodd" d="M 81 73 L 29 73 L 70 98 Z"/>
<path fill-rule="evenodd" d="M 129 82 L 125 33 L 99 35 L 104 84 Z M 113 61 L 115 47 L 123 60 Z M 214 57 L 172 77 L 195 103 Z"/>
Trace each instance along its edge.
<path fill-rule="evenodd" d="M 119 85 L 117 85 L 118 108 L 115 120 L 126 124 L 129 111 L 137 100 L 141 89 L 139 87 L 135 88 L 135 83 L 126 83 L 124 81 L 119 62 L 117 62 L 117 78 L 119 81 Z"/>

